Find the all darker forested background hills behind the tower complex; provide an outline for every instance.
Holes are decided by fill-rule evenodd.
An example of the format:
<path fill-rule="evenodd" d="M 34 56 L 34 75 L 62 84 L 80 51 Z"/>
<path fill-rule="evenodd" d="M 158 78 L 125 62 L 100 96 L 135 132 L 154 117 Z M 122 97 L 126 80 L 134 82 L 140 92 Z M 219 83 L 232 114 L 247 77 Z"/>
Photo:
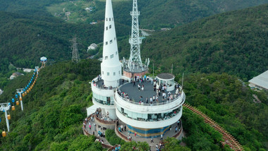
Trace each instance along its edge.
<path fill-rule="evenodd" d="M 264 4 L 267 1 L 222 0 L 217 2 L 202 1 L 202 3 L 200 1 L 173 0 L 138 1 L 141 11 L 140 27 L 173 27 L 192 22 L 198 18 L 211 16 L 214 13 Z M 47 56 L 50 63 L 71 59 L 71 49 L 69 48 L 71 42 L 69 40 L 75 35 L 78 37 L 78 43 L 80 43 L 78 49 L 82 59 L 91 55 L 85 52 L 89 44 L 92 42 L 102 42 L 104 1 L 92 1 L 96 6 L 96 10 L 88 15 L 88 21 L 85 21 L 85 23 L 65 23 L 60 18 L 53 17 L 51 12 L 47 11 L 48 6 L 61 4 L 62 2 L 66 1 L 1 0 L 0 10 L 15 13 L 0 12 L 0 78 L 3 79 L 1 80 L 0 87 L 6 85 L 6 78 L 13 72 L 13 69 L 8 68 L 10 63 L 16 67 L 33 67 L 39 61 L 40 56 Z M 129 11 L 131 11 L 132 1 L 114 1 L 113 4 L 114 16 L 116 18 L 116 33 L 118 40 L 120 40 L 120 37 L 130 33 L 131 18 Z M 236 15 L 236 12 L 226 13 L 185 25 L 182 28 L 176 28 L 171 32 L 160 33 L 156 37 L 145 40 L 145 51 L 142 51 L 145 55 L 148 55 L 147 52 L 152 52 L 152 50 L 152 54 L 157 54 L 157 56 L 161 53 L 161 57 L 153 56 L 152 62 L 168 63 L 162 66 L 162 69 L 168 68 L 172 63 L 176 67 L 182 67 L 181 65 L 183 65 L 184 68 L 176 68 L 175 73 L 181 73 L 181 71 L 201 71 L 205 73 L 223 71 L 239 74 L 242 78 L 252 78 L 252 76 L 261 73 L 267 68 L 265 67 L 265 61 L 267 59 L 260 58 L 256 52 L 252 54 L 251 52 L 244 53 L 243 50 L 240 50 L 236 51 L 235 55 L 233 55 L 233 51 L 234 49 L 262 47 L 262 44 L 267 44 L 265 41 L 267 40 L 265 39 L 265 32 L 267 32 L 267 26 L 265 24 L 265 18 L 267 17 L 265 17 L 265 13 L 267 11 L 264 7 L 260 8 L 262 10 L 255 8 L 252 11 L 256 12 L 248 12 L 249 14 L 246 11 L 241 11 L 244 12 L 242 16 L 240 16 L 240 11 L 236 11 Z M 229 15 L 232 17 L 227 18 L 226 16 Z M 240 18 L 240 20 L 236 20 L 236 17 Z M 243 18 L 248 18 L 248 20 L 243 20 Z M 100 22 L 97 25 L 89 25 L 90 20 L 100 20 Z M 238 21 L 238 24 L 236 24 L 236 21 Z M 207 23 L 206 25 L 202 24 L 205 22 Z M 249 24 L 247 24 L 248 22 Z M 222 23 L 225 23 L 225 25 Z M 262 25 L 263 29 L 255 29 L 255 25 L 257 27 Z M 221 27 L 222 29 L 217 27 Z M 237 29 L 240 29 L 240 33 L 236 32 Z M 251 29 L 253 30 L 251 31 Z M 262 37 L 258 36 L 258 32 L 260 32 Z M 221 38 L 217 39 L 216 36 L 221 36 Z M 257 39 L 254 39 L 254 36 Z M 157 37 L 160 37 L 159 41 L 156 40 Z M 248 40 L 253 40 L 257 44 L 251 44 Z M 244 44 L 245 41 L 248 43 Z M 266 46 L 262 48 L 265 49 Z M 195 49 L 195 51 L 191 49 Z M 206 54 L 204 52 L 200 54 L 200 49 L 209 49 L 209 51 L 206 51 Z M 231 51 L 224 55 L 225 59 L 222 60 L 218 59 L 217 55 L 219 53 L 216 52 L 212 54 L 212 56 L 215 54 L 216 57 L 210 57 L 210 52 L 214 52 L 215 49 L 221 49 L 221 51 L 216 52 L 223 51 L 225 54 L 225 49 L 230 49 Z M 127 40 L 119 42 L 119 51 L 122 52 L 121 55 L 128 56 L 129 44 Z M 241 51 L 244 55 L 243 58 L 240 57 Z M 191 52 L 195 53 L 193 54 Z M 177 57 L 175 55 L 170 59 L 169 56 L 173 53 L 179 53 L 179 56 Z M 260 52 L 260 54 L 265 54 L 265 51 L 264 53 Z M 233 57 L 229 57 L 229 55 L 233 55 Z M 252 61 L 252 58 L 257 59 L 257 61 Z M 238 62 L 239 66 L 235 66 L 236 61 L 239 59 L 241 60 Z M 261 59 L 264 61 L 262 64 L 260 63 Z M 191 67 L 188 64 L 189 62 Z M 204 63 L 206 64 L 204 65 Z M 218 63 L 223 64 L 223 66 L 219 67 Z M 245 69 L 244 67 L 248 68 Z"/>

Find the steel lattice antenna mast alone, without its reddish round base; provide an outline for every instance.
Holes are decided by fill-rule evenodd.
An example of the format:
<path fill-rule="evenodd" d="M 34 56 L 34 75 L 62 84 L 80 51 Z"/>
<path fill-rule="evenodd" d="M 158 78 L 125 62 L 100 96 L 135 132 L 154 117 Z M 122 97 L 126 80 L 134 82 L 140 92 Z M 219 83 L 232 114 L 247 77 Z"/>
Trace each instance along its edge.
<path fill-rule="evenodd" d="M 129 39 L 130 43 L 130 58 L 128 60 L 128 68 L 133 71 L 135 66 L 142 68 L 142 59 L 140 58 L 140 44 L 142 40 L 140 39 L 139 31 L 139 20 L 140 11 L 138 11 L 137 0 L 133 0 L 133 11 L 130 12 L 132 16 L 132 27 L 131 27 L 131 37 Z"/>

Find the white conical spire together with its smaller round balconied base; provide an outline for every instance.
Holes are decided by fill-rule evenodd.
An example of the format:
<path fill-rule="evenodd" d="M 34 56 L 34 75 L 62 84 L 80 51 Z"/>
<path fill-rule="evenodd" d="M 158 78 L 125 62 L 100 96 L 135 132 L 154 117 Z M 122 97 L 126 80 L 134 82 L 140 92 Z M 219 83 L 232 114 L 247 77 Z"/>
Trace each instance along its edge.
<path fill-rule="evenodd" d="M 119 61 L 111 0 L 106 0 L 103 59 L 101 75 L 92 80 L 93 103 L 102 109 L 107 120 L 117 119 L 114 105 L 114 89 L 120 84 L 122 64 Z M 108 115 L 107 115 L 108 114 Z"/>

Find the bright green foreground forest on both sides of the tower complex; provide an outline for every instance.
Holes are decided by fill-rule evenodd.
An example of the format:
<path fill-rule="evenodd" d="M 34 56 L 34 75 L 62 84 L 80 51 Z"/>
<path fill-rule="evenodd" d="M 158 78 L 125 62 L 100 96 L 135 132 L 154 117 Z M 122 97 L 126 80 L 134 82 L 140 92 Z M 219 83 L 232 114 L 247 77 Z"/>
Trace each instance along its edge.
<path fill-rule="evenodd" d="M 82 131 L 85 107 L 92 105 L 88 82 L 99 74 L 99 65 L 99 61 L 89 59 L 78 64 L 64 61 L 43 68 L 35 87 L 23 97 L 24 111 L 20 106 L 16 106 L 16 111 L 8 111 L 11 132 L 6 138 L 0 138 L 0 150 L 102 150 L 99 143 L 93 143 L 95 138 L 87 138 Z M 16 88 L 24 87 L 31 75 L 12 80 L 0 96 L 0 102 L 11 100 Z M 251 91 L 233 75 L 217 73 L 189 75 L 185 78 L 184 91 L 187 102 L 226 128 L 245 149 L 264 150 L 268 100 L 262 92 Z M 253 102 L 253 94 L 262 103 Z M 0 116 L 4 119 L 4 114 Z M 191 111 L 183 109 L 182 120 L 186 147 L 229 150 L 228 147 L 221 149 L 221 135 Z M 6 123 L 2 120 L 0 129 L 4 128 Z M 181 148 L 178 141 L 171 144 Z"/>

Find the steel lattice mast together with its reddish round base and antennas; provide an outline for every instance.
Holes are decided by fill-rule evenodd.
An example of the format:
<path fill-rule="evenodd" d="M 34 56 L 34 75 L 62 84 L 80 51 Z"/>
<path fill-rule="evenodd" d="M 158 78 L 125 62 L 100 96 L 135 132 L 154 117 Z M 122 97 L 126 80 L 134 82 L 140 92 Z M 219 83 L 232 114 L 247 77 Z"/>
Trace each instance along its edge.
<path fill-rule="evenodd" d="M 138 2 L 133 0 L 133 10 L 130 12 L 132 16 L 131 37 L 130 43 L 130 57 L 128 60 L 123 59 L 123 75 L 128 78 L 133 78 L 136 75 L 145 75 L 148 72 L 150 59 L 146 59 L 145 64 L 142 64 L 140 57 L 140 44 L 142 39 L 140 37 L 139 19 L 140 11 L 138 11 Z"/>

